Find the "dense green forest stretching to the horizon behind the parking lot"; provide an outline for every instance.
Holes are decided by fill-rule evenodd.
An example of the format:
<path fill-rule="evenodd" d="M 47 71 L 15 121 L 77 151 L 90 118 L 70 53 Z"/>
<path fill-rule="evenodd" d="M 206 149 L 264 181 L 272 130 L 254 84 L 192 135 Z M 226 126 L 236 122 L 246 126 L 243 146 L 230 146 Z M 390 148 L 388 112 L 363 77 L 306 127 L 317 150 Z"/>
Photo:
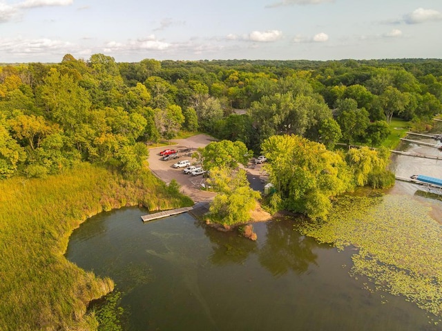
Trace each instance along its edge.
<path fill-rule="evenodd" d="M 442 61 L 84 61 L 3 66 L 0 177 L 44 177 L 78 161 L 124 172 L 146 143 L 180 130 L 242 141 L 274 134 L 380 145 L 392 117 L 416 123 L 442 109 Z"/>

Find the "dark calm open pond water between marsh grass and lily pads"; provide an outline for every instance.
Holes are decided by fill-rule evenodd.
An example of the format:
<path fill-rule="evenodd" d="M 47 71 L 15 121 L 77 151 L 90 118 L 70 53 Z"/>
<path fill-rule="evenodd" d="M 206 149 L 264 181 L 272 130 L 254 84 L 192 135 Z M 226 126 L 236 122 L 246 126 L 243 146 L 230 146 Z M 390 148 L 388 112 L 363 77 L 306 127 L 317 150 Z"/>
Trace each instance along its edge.
<path fill-rule="evenodd" d="M 115 280 L 124 330 L 438 330 L 414 304 L 350 277 L 354 250 L 319 245 L 293 221 L 257 223 L 253 242 L 188 214 L 152 223 L 142 214 L 89 219 L 66 253 Z"/>

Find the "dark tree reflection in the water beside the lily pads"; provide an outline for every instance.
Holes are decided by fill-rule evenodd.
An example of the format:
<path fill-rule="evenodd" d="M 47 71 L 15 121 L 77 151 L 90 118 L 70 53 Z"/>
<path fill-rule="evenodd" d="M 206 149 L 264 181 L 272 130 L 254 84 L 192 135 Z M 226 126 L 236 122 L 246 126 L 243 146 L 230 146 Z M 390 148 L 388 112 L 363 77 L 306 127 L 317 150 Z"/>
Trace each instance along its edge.
<path fill-rule="evenodd" d="M 317 265 L 318 255 L 312 251 L 317 246 L 316 241 L 294 231 L 287 221 L 273 221 L 267 223 L 267 241 L 258 252 L 259 261 L 275 277 L 289 270 L 303 274 L 310 264 Z"/>

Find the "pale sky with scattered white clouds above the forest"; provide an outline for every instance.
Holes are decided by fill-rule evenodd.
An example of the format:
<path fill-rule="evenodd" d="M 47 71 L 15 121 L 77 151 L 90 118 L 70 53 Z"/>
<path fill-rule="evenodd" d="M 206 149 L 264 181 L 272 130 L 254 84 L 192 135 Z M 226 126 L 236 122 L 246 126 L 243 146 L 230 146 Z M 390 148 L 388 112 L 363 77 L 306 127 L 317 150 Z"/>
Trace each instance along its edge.
<path fill-rule="evenodd" d="M 442 0 L 0 0 L 0 63 L 442 58 Z"/>

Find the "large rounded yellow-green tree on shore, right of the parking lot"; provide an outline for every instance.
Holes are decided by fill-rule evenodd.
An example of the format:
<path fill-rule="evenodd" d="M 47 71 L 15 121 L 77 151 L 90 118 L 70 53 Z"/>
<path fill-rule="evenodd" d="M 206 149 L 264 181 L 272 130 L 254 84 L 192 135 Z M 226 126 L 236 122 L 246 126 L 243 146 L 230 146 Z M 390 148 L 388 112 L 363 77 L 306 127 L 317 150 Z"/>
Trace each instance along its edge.
<path fill-rule="evenodd" d="M 280 208 L 325 219 L 332 197 L 352 189 L 352 173 L 343 157 L 321 143 L 282 135 L 269 137 L 261 148 Z"/>

